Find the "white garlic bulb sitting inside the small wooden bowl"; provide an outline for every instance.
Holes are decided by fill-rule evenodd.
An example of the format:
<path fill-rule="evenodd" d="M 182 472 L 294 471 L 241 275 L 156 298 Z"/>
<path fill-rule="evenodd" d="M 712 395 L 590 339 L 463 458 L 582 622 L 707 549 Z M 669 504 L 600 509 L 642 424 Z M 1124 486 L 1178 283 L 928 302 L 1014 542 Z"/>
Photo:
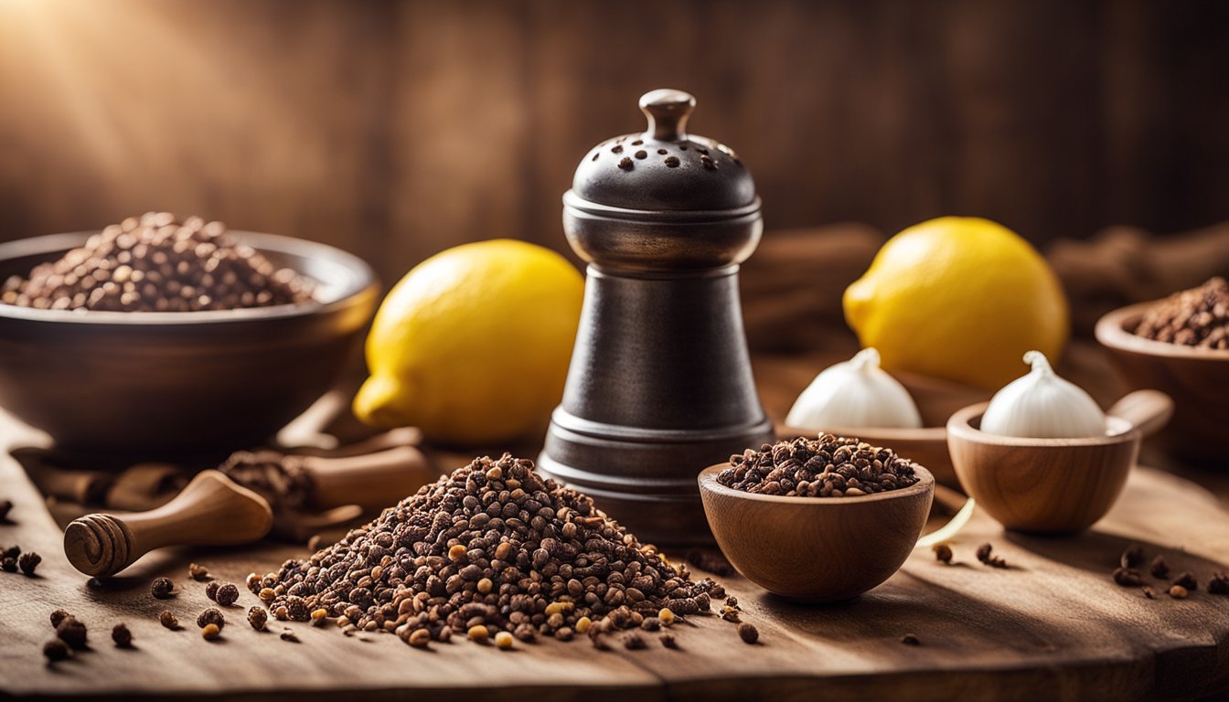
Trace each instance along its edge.
<path fill-rule="evenodd" d="M 1046 354 L 1029 352 L 1024 363 L 1032 370 L 994 393 L 982 414 L 982 432 L 1032 439 L 1105 434 L 1105 413 L 1088 392 L 1058 377 Z"/>

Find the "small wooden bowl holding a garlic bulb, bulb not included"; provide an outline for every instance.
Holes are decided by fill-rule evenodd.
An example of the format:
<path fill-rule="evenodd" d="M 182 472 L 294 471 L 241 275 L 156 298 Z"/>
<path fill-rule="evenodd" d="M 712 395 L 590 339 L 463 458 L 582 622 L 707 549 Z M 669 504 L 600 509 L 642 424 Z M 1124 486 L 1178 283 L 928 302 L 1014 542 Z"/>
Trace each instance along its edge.
<path fill-rule="evenodd" d="M 1075 534 L 1105 516 L 1136 462 L 1139 429 L 1107 416 L 1104 436 L 998 436 L 978 429 L 987 406 L 966 407 L 948 420 L 952 465 L 968 497 L 1016 531 Z"/>

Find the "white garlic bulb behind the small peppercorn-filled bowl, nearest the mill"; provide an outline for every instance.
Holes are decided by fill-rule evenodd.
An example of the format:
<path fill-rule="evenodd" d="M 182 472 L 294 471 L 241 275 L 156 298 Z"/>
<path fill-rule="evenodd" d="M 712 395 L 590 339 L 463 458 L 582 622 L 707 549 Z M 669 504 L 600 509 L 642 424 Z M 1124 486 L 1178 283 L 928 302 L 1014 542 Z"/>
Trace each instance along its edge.
<path fill-rule="evenodd" d="M 909 391 L 879 368 L 879 352 L 864 348 L 815 376 L 798 396 L 785 423 L 819 432 L 858 427 L 922 427 Z"/>

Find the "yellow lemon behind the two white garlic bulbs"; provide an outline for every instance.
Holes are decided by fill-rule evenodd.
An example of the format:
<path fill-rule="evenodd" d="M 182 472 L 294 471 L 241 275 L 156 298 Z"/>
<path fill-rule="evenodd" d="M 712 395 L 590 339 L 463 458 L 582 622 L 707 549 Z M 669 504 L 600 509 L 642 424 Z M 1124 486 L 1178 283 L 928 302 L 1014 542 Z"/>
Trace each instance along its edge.
<path fill-rule="evenodd" d="M 1067 299 L 1054 272 L 1005 226 L 945 216 L 890 239 L 844 293 L 846 321 L 882 366 L 986 390 L 1023 374 L 1020 358 L 1057 359 Z"/>

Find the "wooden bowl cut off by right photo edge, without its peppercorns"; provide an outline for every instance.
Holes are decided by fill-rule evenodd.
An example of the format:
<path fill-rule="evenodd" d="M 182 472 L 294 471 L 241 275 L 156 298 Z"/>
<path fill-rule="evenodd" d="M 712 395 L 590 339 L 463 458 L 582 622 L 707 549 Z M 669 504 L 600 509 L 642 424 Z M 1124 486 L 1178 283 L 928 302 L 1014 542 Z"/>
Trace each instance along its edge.
<path fill-rule="evenodd" d="M 1197 349 L 1137 337 L 1143 302 L 1096 322 L 1096 341 L 1131 388 L 1154 387 L 1174 398 L 1174 420 L 1160 434 L 1165 449 L 1187 460 L 1225 465 L 1229 451 L 1229 350 Z"/>

